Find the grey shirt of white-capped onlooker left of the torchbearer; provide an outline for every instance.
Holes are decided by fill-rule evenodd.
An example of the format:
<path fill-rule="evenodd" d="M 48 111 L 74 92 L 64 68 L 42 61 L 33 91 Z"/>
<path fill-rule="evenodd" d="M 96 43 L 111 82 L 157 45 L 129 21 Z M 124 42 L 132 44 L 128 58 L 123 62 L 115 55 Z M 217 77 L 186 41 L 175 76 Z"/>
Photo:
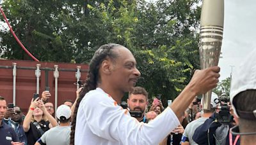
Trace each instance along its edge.
<path fill-rule="evenodd" d="M 70 144 L 71 127 L 53 127 L 42 135 L 41 141 L 47 145 Z"/>

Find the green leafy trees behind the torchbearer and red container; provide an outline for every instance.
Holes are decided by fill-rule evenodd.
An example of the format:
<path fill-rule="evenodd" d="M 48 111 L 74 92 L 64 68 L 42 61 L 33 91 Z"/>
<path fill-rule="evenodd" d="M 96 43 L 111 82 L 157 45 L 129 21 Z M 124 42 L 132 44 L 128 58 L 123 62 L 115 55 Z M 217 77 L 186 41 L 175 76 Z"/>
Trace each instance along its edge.
<path fill-rule="evenodd" d="M 165 104 L 199 68 L 198 1 L 6 0 L 3 9 L 24 46 L 41 61 L 88 63 L 100 45 L 126 46 L 142 74 L 138 85 L 150 96 L 162 94 Z M 0 31 L 0 39 L 3 58 L 30 59 L 9 31 Z"/>

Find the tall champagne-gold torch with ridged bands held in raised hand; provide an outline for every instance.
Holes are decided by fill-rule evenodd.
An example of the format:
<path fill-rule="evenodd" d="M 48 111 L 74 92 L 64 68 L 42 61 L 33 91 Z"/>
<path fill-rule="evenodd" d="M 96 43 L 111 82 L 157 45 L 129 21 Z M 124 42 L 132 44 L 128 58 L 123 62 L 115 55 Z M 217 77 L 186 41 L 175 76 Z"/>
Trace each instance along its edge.
<path fill-rule="evenodd" d="M 200 67 L 218 66 L 223 38 L 224 0 L 203 0 L 200 21 Z M 203 109 L 211 109 L 212 90 L 203 94 Z"/>

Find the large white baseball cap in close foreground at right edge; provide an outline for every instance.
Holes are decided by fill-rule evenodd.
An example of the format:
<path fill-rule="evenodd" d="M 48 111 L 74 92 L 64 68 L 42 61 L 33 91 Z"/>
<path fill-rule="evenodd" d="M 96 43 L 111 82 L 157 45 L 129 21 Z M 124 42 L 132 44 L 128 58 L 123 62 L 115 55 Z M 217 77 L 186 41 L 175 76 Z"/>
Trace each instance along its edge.
<path fill-rule="evenodd" d="M 233 99 L 240 92 L 256 90 L 256 49 L 236 68 L 231 80 L 230 102 L 237 117 Z"/>

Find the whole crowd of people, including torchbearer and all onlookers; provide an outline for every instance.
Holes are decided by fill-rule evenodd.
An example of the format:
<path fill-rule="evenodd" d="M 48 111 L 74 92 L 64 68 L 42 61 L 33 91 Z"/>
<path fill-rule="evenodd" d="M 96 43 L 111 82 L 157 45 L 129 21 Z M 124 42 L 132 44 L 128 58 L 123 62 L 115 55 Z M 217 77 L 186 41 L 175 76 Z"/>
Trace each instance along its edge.
<path fill-rule="evenodd" d="M 150 103 L 147 90 L 135 86 L 140 71 L 127 48 L 100 46 L 76 100 L 65 100 L 55 114 L 47 91 L 31 99 L 26 116 L 0 97 L 0 144 L 253 144 L 253 54 L 234 75 L 230 101 L 216 101 L 220 99 L 212 92 L 211 110 L 202 109 L 204 101 L 198 96 L 214 88 L 220 77 L 219 67 L 209 67 L 196 71 L 172 105 L 164 108 L 161 99 Z M 125 92 L 127 108 L 120 105 Z M 227 121 L 228 115 L 234 118 Z"/>

